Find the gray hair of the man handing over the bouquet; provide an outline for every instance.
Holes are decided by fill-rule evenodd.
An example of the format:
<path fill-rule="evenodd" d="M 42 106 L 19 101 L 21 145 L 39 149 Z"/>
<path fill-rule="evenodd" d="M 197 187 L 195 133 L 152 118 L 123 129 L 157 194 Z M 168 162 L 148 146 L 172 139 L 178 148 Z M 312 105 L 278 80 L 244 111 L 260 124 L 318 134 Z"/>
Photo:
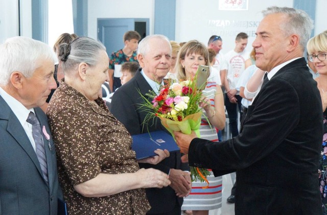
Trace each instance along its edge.
<path fill-rule="evenodd" d="M 288 21 L 281 24 L 281 29 L 286 36 L 297 34 L 299 36 L 300 45 L 304 50 L 314 27 L 313 20 L 305 11 L 296 10 L 294 8 L 269 7 L 262 12 L 264 16 L 276 13 L 285 14 L 288 17 Z"/>

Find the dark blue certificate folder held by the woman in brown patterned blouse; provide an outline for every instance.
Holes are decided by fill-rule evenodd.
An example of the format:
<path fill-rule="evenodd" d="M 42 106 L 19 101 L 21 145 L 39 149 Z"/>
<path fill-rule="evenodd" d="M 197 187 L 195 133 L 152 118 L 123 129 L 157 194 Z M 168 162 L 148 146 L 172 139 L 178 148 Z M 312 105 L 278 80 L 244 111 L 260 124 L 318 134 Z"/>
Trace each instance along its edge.
<path fill-rule="evenodd" d="M 157 155 L 156 149 L 167 149 L 169 152 L 179 151 L 174 138 L 163 130 L 133 135 L 132 150 L 136 152 L 136 159 L 142 159 Z"/>

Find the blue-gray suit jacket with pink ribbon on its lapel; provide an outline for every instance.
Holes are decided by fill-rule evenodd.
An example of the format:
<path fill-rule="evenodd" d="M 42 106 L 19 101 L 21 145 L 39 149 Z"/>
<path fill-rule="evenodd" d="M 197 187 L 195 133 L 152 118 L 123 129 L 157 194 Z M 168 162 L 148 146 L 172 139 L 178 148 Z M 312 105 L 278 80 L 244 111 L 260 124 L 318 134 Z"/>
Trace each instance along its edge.
<path fill-rule="evenodd" d="M 48 165 L 49 186 L 43 179 L 41 167 L 24 128 L 0 96 L 0 214 L 57 215 L 58 183 L 56 149 L 52 151 L 43 136 Z M 50 134 L 48 120 L 40 108 L 35 114 Z"/>

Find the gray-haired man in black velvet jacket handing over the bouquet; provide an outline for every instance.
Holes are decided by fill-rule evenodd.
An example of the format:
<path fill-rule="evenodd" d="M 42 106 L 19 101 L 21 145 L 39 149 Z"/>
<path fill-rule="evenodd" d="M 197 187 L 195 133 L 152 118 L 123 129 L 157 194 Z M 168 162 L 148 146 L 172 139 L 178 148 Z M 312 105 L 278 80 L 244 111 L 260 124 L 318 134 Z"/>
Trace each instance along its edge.
<path fill-rule="evenodd" d="M 236 214 L 322 214 L 321 98 L 302 57 L 312 20 L 292 8 L 263 14 L 252 46 L 269 80 L 249 106 L 242 132 L 220 143 L 180 132 L 176 140 L 190 166 L 215 175 L 237 171 Z"/>

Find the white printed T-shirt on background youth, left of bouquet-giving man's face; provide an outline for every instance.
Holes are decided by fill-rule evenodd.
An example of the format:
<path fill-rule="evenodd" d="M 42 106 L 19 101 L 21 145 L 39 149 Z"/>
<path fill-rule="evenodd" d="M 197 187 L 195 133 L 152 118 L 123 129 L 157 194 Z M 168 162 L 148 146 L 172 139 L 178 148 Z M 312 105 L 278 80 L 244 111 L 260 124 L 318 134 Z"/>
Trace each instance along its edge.
<path fill-rule="evenodd" d="M 242 51 L 236 52 L 230 50 L 225 55 L 228 69 L 227 69 L 227 80 L 229 84 L 229 89 L 235 89 L 238 80 L 244 71 L 245 61 L 249 59 L 249 52 Z"/>

